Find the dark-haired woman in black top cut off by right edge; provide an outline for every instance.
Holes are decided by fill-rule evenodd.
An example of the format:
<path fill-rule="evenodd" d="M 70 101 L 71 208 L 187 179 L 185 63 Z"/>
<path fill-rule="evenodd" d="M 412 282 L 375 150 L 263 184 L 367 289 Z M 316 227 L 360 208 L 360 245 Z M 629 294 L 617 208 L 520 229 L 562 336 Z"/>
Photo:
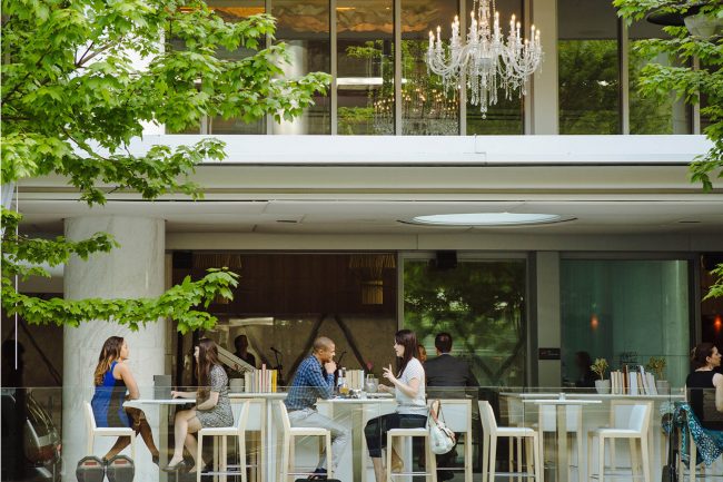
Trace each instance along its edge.
<path fill-rule="evenodd" d="M 723 431 L 723 375 L 721 353 L 712 343 L 699 343 L 691 352 L 693 372 L 685 380 L 689 403 L 704 429 Z"/>

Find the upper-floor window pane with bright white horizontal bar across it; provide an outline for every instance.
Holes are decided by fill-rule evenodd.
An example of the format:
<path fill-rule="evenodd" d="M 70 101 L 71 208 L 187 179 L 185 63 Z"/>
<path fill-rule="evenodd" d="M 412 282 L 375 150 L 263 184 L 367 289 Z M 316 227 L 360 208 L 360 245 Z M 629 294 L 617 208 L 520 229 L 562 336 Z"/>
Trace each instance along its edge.
<path fill-rule="evenodd" d="M 394 134 L 392 0 L 337 1 L 338 134 Z"/>

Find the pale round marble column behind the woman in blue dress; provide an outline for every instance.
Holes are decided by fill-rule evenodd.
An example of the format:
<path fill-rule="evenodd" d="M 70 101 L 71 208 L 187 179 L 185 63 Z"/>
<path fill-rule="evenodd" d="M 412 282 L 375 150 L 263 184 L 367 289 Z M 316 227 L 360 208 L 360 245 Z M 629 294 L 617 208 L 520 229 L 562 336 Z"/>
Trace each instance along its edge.
<path fill-rule="evenodd" d="M 120 244 L 108 254 L 70 259 L 65 270 L 65 296 L 81 298 L 155 297 L 164 292 L 166 230 L 162 219 L 131 216 L 85 216 L 66 219 L 66 236 L 85 239 L 97 232 L 111 234 Z M 152 397 L 152 377 L 164 373 L 166 322 L 151 322 L 138 332 L 105 321 L 66 327 L 63 333 L 62 455 L 63 481 L 76 480 L 76 464 L 87 455 L 82 403 L 93 393 L 93 371 L 109 336 L 126 338 L 129 365 L 141 397 Z M 155 434 L 156 439 L 158 434 Z M 93 454 L 102 456 L 115 437 L 96 437 Z M 158 443 L 158 440 L 157 440 Z M 130 454 L 127 449 L 125 454 Z M 157 481 L 158 468 L 138 437 L 135 482 Z"/>

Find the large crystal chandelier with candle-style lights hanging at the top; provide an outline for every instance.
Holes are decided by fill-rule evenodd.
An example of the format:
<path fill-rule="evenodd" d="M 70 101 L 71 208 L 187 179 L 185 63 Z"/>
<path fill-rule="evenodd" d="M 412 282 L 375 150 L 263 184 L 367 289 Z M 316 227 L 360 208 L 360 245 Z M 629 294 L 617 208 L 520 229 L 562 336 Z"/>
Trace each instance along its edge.
<path fill-rule="evenodd" d="M 519 90 L 521 96 L 527 94 L 527 80 L 543 57 L 539 30 L 535 26 L 532 26 L 529 39 L 523 40 L 519 22 L 513 14 L 505 42 L 494 0 L 474 0 L 466 42 L 459 37 L 458 17 L 452 23 L 448 48 L 442 45 L 440 30 L 437 27 L 436 41 L 434 33 L 429 32 L 427 68 L 442 76 L 447 90 L 456 90 L 466 82 L 469 100 L 479 106 L 483 119 L 487 108 L 497 104 L 498 88 L 504 89 L 507 99 L 512 99 L 515 90 Z"/>

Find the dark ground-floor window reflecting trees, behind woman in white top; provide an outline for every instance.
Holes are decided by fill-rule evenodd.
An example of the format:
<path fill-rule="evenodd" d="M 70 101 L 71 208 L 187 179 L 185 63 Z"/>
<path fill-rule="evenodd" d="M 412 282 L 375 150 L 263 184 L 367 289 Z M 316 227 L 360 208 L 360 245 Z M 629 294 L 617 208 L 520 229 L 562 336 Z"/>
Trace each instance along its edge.
<path fill-rule="evenodd" d="M 449 332 L 455 355 L 471 362 L 485 386 L 525 385 L 525 262 L 464 262 L 435 269 L 404 263 L 404 326 L 428 353 Z"/>

